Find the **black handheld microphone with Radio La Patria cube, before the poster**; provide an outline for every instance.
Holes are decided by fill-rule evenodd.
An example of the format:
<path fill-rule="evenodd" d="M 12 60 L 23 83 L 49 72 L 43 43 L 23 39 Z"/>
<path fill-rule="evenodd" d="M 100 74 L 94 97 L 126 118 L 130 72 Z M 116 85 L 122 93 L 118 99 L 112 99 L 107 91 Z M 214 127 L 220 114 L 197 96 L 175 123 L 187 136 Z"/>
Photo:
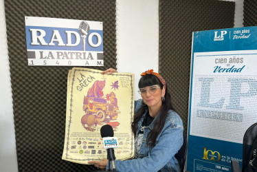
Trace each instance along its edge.
<path fill-rule="evenodd" d="M 115 155 L 114 149 L 118 147 L 118 139 L 113 137 L 113 127 L 111 125 L 103 125 L 100 129 L 101 137 L 104 142 L 104 149 L 107 149 L 107 159 L 109 160 L 109 168 L 110 162 L 113 167 L 113 171 L 115 171 Z"/>

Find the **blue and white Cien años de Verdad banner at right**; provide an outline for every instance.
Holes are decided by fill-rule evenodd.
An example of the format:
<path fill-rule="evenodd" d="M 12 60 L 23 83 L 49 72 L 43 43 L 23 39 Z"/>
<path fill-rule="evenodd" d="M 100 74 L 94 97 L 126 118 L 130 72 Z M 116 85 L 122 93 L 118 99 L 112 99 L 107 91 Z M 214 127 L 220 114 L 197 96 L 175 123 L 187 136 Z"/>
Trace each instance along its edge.
<path fill-rule="evenodd" d="M 193 32 L 188 171 L 231 171 L 257 122 L 257 27 Z"/>

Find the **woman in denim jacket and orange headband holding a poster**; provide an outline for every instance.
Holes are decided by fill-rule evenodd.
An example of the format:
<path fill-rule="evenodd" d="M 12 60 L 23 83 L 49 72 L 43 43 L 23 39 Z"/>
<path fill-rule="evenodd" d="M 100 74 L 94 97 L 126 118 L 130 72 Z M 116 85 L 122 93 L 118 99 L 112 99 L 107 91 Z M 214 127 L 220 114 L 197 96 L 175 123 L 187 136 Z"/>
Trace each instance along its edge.
<path fill-rule="evenodd" d="M 105 74 L 117 72 L 107 69 Z M 175 154 L 183 144 L 183 122 L 172 107 L 164 78 L 148 70 L 141 74 L 138 86 L 142 99 L 135 101 L 132 131 L 135 135 L 135 158 L 115 160 L 116 171 L 179 171 Z M 108 169 L 108 160 L 91 161 Z"/>

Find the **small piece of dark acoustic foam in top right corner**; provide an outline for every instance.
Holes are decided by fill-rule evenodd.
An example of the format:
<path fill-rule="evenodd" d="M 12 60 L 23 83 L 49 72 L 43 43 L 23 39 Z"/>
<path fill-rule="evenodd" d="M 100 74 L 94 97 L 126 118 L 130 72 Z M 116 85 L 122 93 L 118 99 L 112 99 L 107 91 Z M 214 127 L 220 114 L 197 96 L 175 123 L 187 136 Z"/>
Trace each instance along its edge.
<path fill-rule="evenodd" d="M 243 25 L 245 27 L 257 25 L 257 1 L 244 0 L 243 12 Z"/>

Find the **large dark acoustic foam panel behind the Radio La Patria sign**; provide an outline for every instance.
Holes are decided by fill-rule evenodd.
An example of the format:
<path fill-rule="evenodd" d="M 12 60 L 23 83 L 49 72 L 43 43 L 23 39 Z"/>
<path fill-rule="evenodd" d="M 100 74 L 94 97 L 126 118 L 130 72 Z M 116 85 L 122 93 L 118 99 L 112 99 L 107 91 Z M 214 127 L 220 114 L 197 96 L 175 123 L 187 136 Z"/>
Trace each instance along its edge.
<path fill-rule="evenodd" d="M 72 67 L 27 65 L 24 17 L 102 21 L 104 67 L 116 66 L 115 0 L 5 1 L 19 171 L 96 171 L 62 160 L 67 74 Z"/>

